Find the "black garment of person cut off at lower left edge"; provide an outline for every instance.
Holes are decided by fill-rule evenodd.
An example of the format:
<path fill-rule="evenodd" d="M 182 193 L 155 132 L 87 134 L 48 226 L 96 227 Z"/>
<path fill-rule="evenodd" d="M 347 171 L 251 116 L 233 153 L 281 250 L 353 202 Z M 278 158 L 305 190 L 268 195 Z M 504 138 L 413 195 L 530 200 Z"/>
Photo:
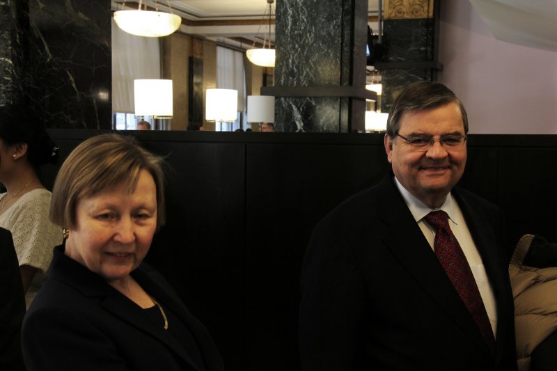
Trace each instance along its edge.
<path fill-rule="evenodd" d="M 19 346 L 24 314 L 22 276 L 12 234 L 0 228 L 0 370 L 24 370 Z"/>

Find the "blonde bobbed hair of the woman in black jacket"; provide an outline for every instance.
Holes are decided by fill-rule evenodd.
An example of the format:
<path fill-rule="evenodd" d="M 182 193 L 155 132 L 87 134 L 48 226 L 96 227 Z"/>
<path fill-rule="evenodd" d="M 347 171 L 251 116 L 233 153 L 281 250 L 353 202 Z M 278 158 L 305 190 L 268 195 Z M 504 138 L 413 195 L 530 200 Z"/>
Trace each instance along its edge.
<path fill-rule="evenodd" d="M 50 203 L 50 219 L 58 226 L 77 227 L 79 200 L 124 187 L 133 192 L 142 170 L 157 187 L 157 230 L 164 225 L 164 172 L 162 157 L 153 155 L 131 136 L 102 134 L 80 143 L 62 164 Z"/>

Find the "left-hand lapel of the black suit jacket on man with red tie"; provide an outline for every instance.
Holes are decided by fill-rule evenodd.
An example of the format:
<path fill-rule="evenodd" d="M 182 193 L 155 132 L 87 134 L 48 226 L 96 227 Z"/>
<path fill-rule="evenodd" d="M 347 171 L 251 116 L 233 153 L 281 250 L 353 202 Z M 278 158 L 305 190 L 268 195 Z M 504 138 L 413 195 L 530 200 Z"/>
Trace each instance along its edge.
<path fill-rule="evenodd" d="M 385 197 L 381 200 L 384 205 L 379 207 L 379 210 L 385 210 L 384 222 L 389 226 L 382 237 L 384 243 L 424 292 L 444 310 L 448 317 L 454 319 L 455 324 L 473 339 L 478 347 L 489 354 L 489 348 L 473 317 L 437 261 L 430 244 L 427 243 L 391 177 L 384 180 L 380 187 Z M 401 230 L 405 232 L 401 233 Z"/>

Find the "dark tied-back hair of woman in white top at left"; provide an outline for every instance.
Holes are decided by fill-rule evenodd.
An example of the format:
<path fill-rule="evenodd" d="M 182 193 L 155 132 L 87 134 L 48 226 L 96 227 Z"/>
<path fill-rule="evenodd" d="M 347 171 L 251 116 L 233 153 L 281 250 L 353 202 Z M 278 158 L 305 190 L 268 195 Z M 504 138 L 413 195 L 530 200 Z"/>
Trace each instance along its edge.
<path fill-rule="evenodd" d="M 31 107 L 0 106 L 0 139 L 8 145 L 26 143 L 27 160 L 36 171 L 44 164 L 55 164 L 58 159 L 58 148 Z"/>

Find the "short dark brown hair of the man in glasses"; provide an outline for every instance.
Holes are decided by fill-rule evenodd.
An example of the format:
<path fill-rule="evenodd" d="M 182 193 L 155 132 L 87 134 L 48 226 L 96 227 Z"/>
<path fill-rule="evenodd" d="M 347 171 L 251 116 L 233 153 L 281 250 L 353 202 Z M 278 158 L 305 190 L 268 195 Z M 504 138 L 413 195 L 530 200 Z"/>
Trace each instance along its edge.
<path fill-rule="evenodd" d="M 425 111 L 438 108 L 455 102 L 460 107 L 462 113 L 462 123 L 464 123 L 464 134 L 468 134 L 468 115 L 460 99 L 444 84 L 439 82 L 418 81 L 407 86 L 396 97 L 389 111 L 387 119 L 387 135 L 395 138 L 400 129 L 400 120 L 405 112 Z"/>

